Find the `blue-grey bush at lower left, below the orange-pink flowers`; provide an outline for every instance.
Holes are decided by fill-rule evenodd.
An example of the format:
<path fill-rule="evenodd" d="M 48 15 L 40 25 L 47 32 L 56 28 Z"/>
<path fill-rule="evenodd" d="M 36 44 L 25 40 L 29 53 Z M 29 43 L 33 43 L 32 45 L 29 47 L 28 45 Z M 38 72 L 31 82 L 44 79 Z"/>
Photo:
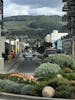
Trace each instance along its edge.
<path fill-rule="evenodd" d="M 0 88 L 9 93 L 21 93 L 23 84 L 18 84 L 10 80 L 0 80 Z"/>

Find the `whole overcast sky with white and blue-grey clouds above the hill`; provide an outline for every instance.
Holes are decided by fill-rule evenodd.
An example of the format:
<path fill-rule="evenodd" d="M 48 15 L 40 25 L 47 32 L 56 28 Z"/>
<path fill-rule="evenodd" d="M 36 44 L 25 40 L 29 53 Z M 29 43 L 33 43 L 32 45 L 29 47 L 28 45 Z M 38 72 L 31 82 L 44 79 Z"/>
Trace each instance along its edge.
<path fill-rule="evenodd" d="M 62 15 L 62 0 L 4 0 L 4 16 Z"/>

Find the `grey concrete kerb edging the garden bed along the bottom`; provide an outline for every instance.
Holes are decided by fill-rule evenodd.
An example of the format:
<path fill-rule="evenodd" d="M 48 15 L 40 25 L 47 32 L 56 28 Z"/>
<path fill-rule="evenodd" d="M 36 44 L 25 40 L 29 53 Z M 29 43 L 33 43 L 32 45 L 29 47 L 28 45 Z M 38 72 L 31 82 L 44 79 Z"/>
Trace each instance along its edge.
<path fill-rule="evenodd" d="M 75 99 L 35 97 L 35 96 L 17 95 L 17 94 L 2 93 L 2 92 L 0 93 L 0 99 L 6 99 L 6 100 L 75 100 Z"/>

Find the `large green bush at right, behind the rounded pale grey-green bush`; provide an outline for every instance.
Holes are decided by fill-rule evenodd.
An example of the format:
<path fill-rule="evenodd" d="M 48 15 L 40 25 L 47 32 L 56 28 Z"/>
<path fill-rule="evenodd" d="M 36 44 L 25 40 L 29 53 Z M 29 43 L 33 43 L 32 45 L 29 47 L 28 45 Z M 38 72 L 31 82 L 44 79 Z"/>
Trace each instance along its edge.
<path fill-rule="evenodd" d="M 56 63 L 61 68 L 68 67 L 71 69 L 75 69 L 75 60 L 72 57 L 70 57 L 68 55 L 64 55 L 64 54 L 53 54 L 52 56 L 44 59 L 43 62 L 44 63 L 46 63 L 46 62 Z"/>

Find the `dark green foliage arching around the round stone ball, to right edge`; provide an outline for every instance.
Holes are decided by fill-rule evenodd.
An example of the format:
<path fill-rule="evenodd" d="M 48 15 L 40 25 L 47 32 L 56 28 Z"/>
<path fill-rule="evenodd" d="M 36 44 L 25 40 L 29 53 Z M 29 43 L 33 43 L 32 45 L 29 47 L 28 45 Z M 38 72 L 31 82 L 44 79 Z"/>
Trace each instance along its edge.
<path fill-rule="evenodd" d="M 75 98 L 75 85 L 65 78 L 54 78 L 40 82 L 35 89 L 35 95 L 42 96 L 42 89 L 45 86 L 51 86 L 55 89 L 54 98 Z"/>

